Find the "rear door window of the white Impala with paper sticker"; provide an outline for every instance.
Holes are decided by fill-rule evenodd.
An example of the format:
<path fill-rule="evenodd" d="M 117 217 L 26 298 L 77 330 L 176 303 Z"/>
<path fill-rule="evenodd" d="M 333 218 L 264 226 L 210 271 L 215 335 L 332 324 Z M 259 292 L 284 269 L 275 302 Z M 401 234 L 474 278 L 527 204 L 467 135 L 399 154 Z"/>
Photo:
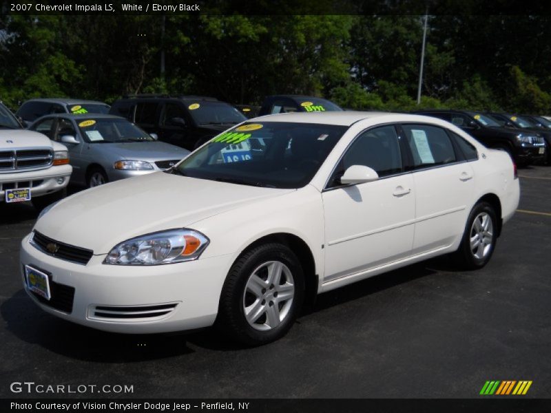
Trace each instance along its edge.
<path fill-rule="evenodd" d="M 403 125 L 415 168 L 445 165 L 457 157 L 446 131 L 430 125 Z"/>

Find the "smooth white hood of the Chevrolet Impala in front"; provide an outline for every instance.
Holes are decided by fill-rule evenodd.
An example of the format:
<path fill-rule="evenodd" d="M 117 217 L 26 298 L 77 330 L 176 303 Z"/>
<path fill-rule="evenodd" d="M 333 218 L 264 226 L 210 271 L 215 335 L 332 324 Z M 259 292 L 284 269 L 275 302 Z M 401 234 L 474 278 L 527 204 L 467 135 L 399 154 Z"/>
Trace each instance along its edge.
<path fill-rule="evenodd" d="M 87 189 L 61 200 L 34 229 L 65 244 L 106 254 L 119 242 L 194 222 L 295 191 L 229 184 L 165 172 Z"/>

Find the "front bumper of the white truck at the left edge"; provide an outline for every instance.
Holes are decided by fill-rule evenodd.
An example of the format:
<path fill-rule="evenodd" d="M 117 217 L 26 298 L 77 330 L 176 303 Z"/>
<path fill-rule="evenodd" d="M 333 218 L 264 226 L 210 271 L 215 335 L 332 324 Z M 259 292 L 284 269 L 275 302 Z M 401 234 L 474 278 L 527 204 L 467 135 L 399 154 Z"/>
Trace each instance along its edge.
<path fill-rule="evenodd" d="M 12 172 L 0 174 L 0 202 L 6 199 L 6 187 L 30 187 L 31 199 L 47 195 L 67 187 L 73 168 L 71 165 L 59 165 L 38 171 Z M 59 184 L 58 178 L 63 178 Z"/>

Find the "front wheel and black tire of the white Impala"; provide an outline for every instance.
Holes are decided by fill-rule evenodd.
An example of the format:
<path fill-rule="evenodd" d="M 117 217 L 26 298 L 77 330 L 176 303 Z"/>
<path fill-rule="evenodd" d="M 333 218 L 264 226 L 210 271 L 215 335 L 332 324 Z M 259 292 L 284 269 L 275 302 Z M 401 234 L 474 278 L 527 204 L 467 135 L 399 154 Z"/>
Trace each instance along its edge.
<path fill-rule="evenodd" d="M 264 280 L 264 268 L 266 269 L 265 275 L 268 277 L 269 268 L 273 265 L 270 263 L 284 264 L 284 266 L 278 267 L 283 268 L 280 273 L 282 279 L 285 278 L 286 281 L 284 284 L 280 284 L 280 287 L 287 286 L 289 288 L 289 273 L 291 274 L 290 279 L 294 285 L 291 300 L 280 301 L 278 292 L 274 291 L 274 288 L 275 290 L 278 288 L 273 284 L 269 286 L 268 279 Z M 273 270 L 271 272 L 277 273 Z M 287 275 L 285 275 L 286 273 Z M 262 293 L 260 298 L 247 290 L 247 284 L 253 279 L 253 275 L 262 279 L 262 282 L 267 282 L 266 288 L 262 288 L 260 291 Z M 279 297 L 281 298 L 282 295 Z M 220 295 L 216 326 L 235 341 L 247 346 L 260 346 L 280 339 L 289 331 L 300 313 L 303 301 L 304 272 L 296 255 L 282 244 L 262 244 L 243 253 L 231 266 Z M 259 308 L 260 317 L 256 321 L 253 320 L 252 323 L 247 321 L 246 307 Z M 261 308 L 264 308 L 264 313 Z M 252 312 L 251 310 L 250 313 Z M 269 313 L 272 315 L 273 312 L 278 315 L 278 321 L 272 328 L 269 326 L 268 315 Z M 262 328 L 264 330 L 261 330 Z"/>

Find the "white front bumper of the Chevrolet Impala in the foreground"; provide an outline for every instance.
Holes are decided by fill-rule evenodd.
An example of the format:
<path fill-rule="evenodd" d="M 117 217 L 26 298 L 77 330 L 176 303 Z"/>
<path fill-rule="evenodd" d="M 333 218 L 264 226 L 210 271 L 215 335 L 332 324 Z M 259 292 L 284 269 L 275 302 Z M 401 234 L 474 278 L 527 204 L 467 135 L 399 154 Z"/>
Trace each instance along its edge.
<path fill-rule="evenodd" d="M 221 255 L 159 266 L 115 266 L 102 264 L 105 255 L 94 255 L 81 265 L 43 253 L 28 239 L 29 235 L 21 242 L 20 268 L 23 286 L 32 300 L 52 315 L 112 332 L 171 332 L 211 326 L 233 262 L 233 255 Z M 25 265 L 49 275 L 50 301 L 28 290 Z M 60 308 L 59 300 L 63 300 L 63 310 L 55 308 Z"/>

